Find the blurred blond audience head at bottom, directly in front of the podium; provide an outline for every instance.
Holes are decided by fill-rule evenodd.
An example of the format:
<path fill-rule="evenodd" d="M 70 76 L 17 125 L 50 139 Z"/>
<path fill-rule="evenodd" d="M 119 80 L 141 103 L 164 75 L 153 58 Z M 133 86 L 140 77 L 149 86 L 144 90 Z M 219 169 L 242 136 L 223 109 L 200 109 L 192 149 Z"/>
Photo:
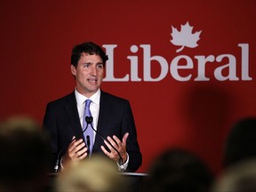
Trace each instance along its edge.
<path fill-rule="evenodd" d="M 56 191 L 125 191 L 124 176 L 107 157 L 94 155 L 91 159 L 70 162 L 56 180 Z"/>

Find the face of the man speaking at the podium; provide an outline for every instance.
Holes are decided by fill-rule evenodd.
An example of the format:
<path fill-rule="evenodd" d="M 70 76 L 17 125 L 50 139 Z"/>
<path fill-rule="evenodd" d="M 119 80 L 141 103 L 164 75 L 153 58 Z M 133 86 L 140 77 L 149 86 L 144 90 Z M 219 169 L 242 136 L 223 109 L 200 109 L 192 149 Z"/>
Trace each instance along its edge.
<path fill-rule="evenodd" d="M 97 92 L 103 79 L 103 62 L 99 55 L 83 52 L 77 67 L 71 65 L 71 73 L 76 76 L 76 90 L 86 97 Z"/>

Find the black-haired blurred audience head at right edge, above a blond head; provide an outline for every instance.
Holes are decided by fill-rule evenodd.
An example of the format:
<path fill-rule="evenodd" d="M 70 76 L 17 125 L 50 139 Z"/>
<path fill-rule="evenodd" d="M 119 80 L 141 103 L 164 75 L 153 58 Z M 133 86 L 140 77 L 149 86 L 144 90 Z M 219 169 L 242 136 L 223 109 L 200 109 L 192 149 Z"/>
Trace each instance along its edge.
<path fill-rule="evenodd" d="M 224 166 L 256 157 L 256 117 L 241 119 L 231 128 L 226 140 Z"/>

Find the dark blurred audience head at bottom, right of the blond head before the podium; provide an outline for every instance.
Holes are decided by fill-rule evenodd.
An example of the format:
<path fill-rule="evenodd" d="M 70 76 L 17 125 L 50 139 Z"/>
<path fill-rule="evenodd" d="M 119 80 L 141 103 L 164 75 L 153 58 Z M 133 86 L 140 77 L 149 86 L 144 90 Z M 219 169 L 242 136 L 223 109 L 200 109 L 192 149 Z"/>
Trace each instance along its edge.
<path fill-rule="evenodd" d="M 171 148 L 157 156 L 150 165 L 145 191 L 206 192 L 213 174 L 195 154 L 181 148 Z"/>

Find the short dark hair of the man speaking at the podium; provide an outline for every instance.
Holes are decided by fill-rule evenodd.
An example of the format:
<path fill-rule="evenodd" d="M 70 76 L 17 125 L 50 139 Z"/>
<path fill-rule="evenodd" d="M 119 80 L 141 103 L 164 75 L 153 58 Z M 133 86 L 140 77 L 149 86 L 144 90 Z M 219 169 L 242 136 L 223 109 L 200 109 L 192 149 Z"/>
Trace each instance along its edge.
<path fill-rule="evenodd" d="M 99 55 L 103 61 L 103 67 L 105 67 L 106 61 L 108 60 L 108 55 L 104 52 L 98 44 L 92 42 L 85 42 L 83 44 L 76 44 L 72 50 L 71 54 L 71 64 L 76 68 L 78 60 L 81 58 L 81 54 L 86 52 L 90 55 Z"/>

